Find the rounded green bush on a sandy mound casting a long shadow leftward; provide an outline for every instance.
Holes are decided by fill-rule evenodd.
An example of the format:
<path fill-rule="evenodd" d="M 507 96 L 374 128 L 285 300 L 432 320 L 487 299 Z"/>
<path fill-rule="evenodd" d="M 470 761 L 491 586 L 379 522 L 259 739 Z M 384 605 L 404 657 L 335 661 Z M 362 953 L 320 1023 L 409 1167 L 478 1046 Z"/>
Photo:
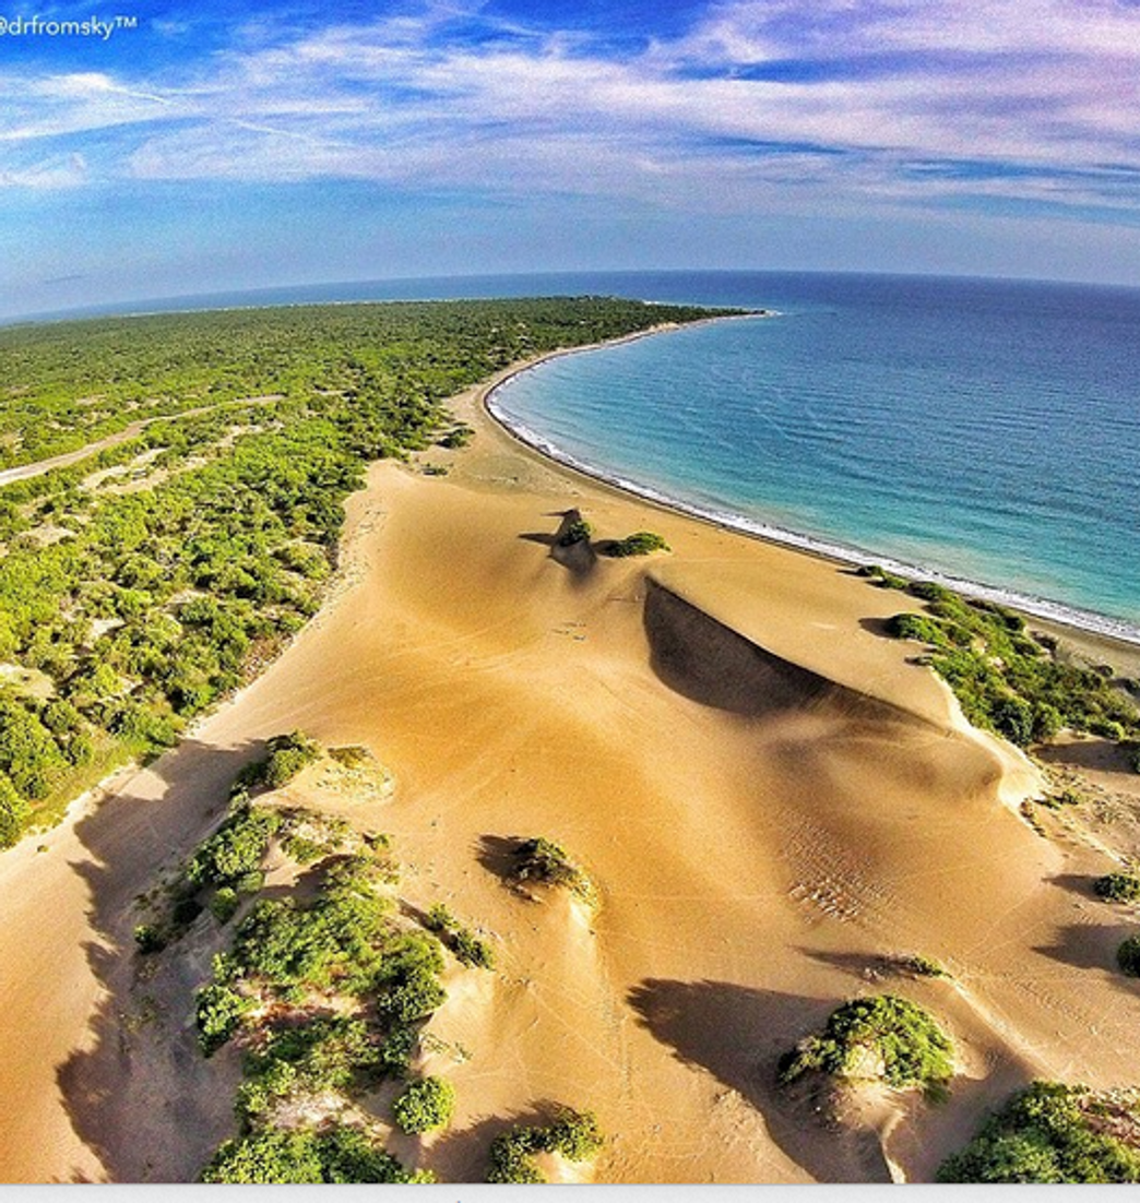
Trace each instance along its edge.
<path fill-rule="evenodd" d="M 908 998 L 855 998 L 831 1013 L 822 1035 L 807 1037 L 785 1055 L 780 1081 L 786 1085 L 811 1071 L 851 1080 L 879 1078 L 937 1095 L 953 1077 L 953 1045 Z"/>

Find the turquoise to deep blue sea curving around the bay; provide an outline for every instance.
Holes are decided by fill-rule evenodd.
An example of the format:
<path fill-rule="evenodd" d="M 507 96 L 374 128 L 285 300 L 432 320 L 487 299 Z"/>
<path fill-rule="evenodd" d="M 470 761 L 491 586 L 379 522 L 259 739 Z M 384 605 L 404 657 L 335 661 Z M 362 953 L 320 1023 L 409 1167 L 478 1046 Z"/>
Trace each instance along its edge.
<path fill-rule="evenodd" d="M 1140 640 L 1140 290 L 575 273 L 107 308 L 584 292 L 776 315 L 568 355 L 514 378 L 494 404 L 532 442 L 744 529 Z"/>

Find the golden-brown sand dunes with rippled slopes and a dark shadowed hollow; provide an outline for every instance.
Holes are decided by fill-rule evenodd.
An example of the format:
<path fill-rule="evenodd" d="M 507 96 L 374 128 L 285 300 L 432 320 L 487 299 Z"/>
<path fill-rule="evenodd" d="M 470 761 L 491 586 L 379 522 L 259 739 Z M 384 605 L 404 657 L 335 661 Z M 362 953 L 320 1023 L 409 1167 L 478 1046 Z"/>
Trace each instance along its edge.
<path fill-rule="evenodd" d="M 424 1156 L 444 1180 L 478 1179 L 495 1131 L 548 1100 L 597 1110 L 603 1181 L 921 1180 L 1030 1077 L 1133 1084 L 1140 997 L 1082 884 L 1105 858 L 1017 816 L 1032 766 L 882 638 L 904 599 L 554 466 L 482 396 L 454 404 L 472 446 L 429 456 L 449 475 L 370 470 L 341 587 L 258 682 L 0 857 L 0 1178 L 191 1178 L 230 1131 L 236 1061 L 203 1062 L 188 1026 L 208 964 L 173 971 L 179 1009 L 130 955 L 132 902 L 296 727 L 376 752 L 395 792 L 370 822 L 408 895 L 497 943 L 432 1021 L 469 1054 L 436 1054 L 459 1091 Z M 572 508 L 673 552 L 554 553 Z M 497 841 L 537 834 L 598 883 L 592 923 L 503 889 Z M 879 979 L 909 953 L 953 979 Z M 775 1057 L 887 988 L 952 1031 L 951 1101 L 813 1130 L 773 1094 Z"/>

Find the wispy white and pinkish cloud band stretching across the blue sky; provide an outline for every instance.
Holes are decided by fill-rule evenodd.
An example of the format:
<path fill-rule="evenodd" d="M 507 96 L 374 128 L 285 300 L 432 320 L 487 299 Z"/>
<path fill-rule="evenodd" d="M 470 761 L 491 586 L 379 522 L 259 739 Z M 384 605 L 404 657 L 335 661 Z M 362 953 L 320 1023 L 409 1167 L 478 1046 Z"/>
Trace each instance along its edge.
<path fill-rule="evenodd" d="M 177 67 L 11 71 L 0 184 L 30 186 L 6 146 L 98 132 L 83 178 L 1140 213 L 1124 0 L 728 0 L 636 53 L 612 45 L 456 2 L 317 29 L 262 16 Z"/>

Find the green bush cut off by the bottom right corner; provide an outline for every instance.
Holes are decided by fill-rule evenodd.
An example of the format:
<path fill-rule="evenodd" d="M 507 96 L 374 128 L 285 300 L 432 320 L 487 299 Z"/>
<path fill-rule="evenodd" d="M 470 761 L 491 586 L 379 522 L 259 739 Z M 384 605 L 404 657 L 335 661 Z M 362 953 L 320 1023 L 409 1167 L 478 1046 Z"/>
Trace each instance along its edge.
<path fill-rule="evenodd" d="M 1035 1081 L 949 1157 L 941 1183 L 1138 1183 L 1135 1091 Z"/>

